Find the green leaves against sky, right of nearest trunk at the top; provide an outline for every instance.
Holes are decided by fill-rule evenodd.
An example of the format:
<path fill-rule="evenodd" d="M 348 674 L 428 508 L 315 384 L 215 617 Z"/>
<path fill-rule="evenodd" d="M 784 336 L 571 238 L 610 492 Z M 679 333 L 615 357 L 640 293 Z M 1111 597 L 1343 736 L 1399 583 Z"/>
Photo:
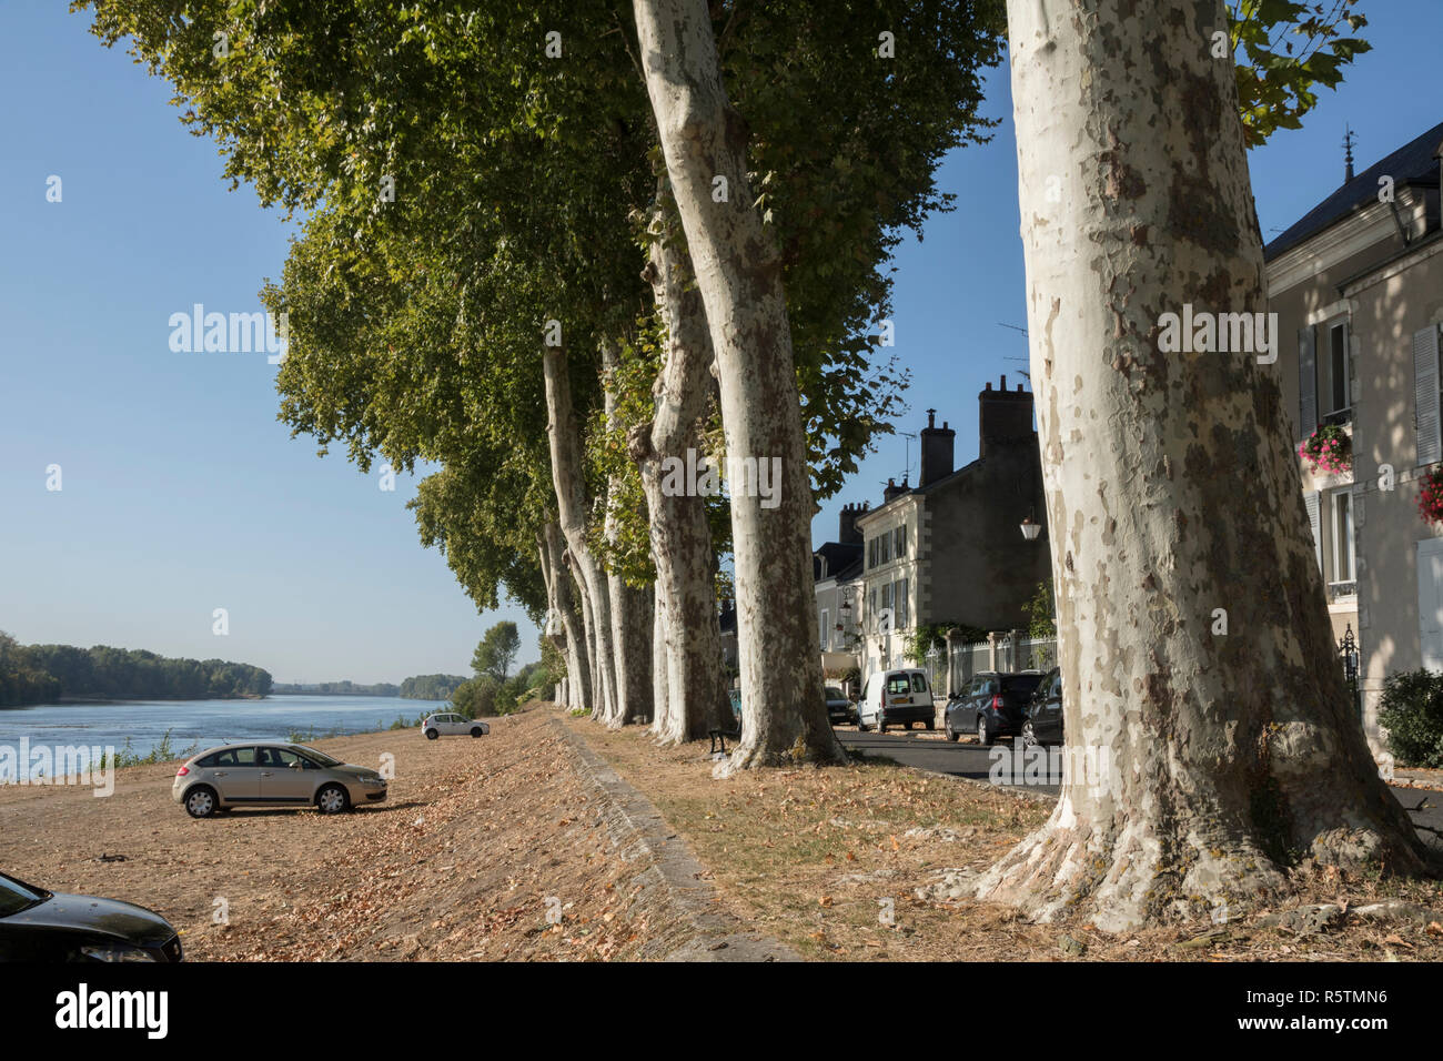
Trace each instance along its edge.
<path fill-rule="evenodd" d="M 1278 128 L 1302 128 L 1316 87 L 1338 88 L 1343 71 L 1372 46 L 1352 36 L 1368 25 L 1356 0 L 1228 0 L 1238 107 L 1250 147 Z M 1240 55 L 1241 52 L 1241 55 Z"/>

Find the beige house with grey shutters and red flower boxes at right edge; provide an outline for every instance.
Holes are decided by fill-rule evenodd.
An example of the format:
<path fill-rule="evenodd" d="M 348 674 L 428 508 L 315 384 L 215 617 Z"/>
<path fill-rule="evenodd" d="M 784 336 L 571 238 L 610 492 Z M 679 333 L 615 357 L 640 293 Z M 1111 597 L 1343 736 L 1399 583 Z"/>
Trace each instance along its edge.
<path fill-rule="evenodd" d="M 1342 186 L 1264 248 L 1293 440 L 1330 426 L 1352 450 L 1351 471 L 1300 459 L 1300 473 L 1333 635 L 1358 641 L 1374 745 L 1384 678 L 1443 670 L 1443 531 L 1417 510 L 1443 460 L 1440 147 L 1443 124 L 1356 175 L 1349 150 Z"/>

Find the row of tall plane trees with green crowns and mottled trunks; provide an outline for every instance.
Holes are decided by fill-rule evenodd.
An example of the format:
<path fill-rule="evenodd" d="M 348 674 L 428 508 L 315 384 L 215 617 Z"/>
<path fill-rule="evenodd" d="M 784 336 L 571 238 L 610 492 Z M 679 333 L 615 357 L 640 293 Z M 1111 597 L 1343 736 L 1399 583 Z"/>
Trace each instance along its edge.
<path fill-rule="evenodd" d="M 423 541 L 481 608 L 544 616 L 564 704 L 664 742 L 723 725 L 730 554 L 724 771 L 843 758 L 810 521 L 889 430 L 892 251 L 951 206 L 934 170 L 987 136 L 1010 35 L 1066 730 L 1111 774 L 984 894 L 1121 925 L 1276 888 L 1289 852 L 1420 865 L 1325 677 L 1276 383 L 1153 341 L 1185 302 L 1266 307 L 1244 144 L 1359 51 L 1349 0 L 82 6 L 229 178 L 309 212 L 264 292 L 281 419 L 362 468 L 442 466 Z M 724 494 L 675 489 L 697 452 Z M 1224 588 L 1247 638 L 1208 637 Z"/>

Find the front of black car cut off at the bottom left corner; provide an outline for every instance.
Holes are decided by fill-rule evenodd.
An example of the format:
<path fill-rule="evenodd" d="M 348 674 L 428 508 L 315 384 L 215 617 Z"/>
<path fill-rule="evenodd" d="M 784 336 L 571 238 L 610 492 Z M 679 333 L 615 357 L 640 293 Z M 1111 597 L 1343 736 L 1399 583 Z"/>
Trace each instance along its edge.
<path fill-rule="evenodd" d="M 180 961 L 180 937 L 153 909 L 61 895 L 0 873 L 0 961 Z"/>

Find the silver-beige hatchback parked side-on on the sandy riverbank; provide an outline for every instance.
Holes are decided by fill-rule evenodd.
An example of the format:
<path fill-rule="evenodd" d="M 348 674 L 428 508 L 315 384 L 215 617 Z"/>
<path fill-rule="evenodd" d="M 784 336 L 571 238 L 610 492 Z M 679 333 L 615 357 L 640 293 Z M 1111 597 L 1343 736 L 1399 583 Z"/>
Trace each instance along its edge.
<path fill-rule="evenodd" d="M 339 814 L 384 800 L 385 778 L 304 745 L 235 743 L 186 759 L 170 795 L 193 818 L 261 805 L 306 805 Z"/>

